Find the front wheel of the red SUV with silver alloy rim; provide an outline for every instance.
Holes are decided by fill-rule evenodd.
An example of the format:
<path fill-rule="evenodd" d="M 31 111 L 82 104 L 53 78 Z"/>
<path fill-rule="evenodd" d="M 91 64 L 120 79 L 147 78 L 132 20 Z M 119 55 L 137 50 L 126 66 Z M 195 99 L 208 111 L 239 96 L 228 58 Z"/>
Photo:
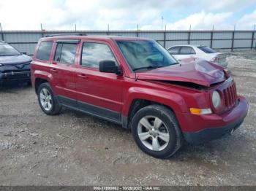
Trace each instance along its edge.
<path fill-rule="evenodd" d="M 157 158 L 171 157 L 183 142 L 175 114 L 161 105 L 143 107 L 135 114 L 132 136 L 143 152 Z"/>

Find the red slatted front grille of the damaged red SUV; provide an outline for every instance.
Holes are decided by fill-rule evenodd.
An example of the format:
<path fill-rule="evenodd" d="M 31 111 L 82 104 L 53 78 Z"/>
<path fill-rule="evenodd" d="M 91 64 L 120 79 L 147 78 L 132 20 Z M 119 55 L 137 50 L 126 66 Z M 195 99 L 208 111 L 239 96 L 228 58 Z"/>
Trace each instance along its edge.
<path fill-rule="evenodd" d="M 225 106 L 227 107 L 227 109 L 232 108 L 236 104 L 236 98 L 237 98 L 236 84 L 233 83 L 233 85 L 223 90 L 223 95 L 224 95 Z"/>

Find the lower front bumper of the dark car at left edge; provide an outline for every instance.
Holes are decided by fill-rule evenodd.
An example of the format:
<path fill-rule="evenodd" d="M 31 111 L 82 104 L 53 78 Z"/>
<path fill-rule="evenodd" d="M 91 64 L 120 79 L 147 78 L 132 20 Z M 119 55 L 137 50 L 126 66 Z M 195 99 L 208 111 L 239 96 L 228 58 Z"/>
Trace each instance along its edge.
<path fill-rule="evenodd" d="M 0 83 L 5 82 L 29 82 L 31 80 L 30 71 L 12 71 L 0 73 Z"/>

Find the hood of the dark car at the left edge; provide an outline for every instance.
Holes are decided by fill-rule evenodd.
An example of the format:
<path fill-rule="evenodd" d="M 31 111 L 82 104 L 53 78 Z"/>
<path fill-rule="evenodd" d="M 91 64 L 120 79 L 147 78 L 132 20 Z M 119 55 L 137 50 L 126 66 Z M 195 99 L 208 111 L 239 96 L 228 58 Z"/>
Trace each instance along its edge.
<path fill-rule="evenodd" d="M 29 55 L 12 55 L 12 56 L 0 56 L 0 63 L 2 65 L 12 65 L 18 63 L 28 63 L 32 59 Z"/>

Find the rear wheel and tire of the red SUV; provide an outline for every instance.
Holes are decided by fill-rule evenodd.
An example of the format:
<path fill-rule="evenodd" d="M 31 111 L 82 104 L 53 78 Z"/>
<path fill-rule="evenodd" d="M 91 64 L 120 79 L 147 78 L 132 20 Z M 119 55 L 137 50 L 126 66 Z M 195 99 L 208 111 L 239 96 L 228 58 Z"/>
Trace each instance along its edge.
<path fill-rule="evenodd" d="M 61 106 L 58 99 L 53 94 L 53 90 L 50 87 L 49 83 L 42 83 L 39 85 L 37 90 L 37 98 L 39 106 L 42 109 L 42 112 L 49 115 L 59 114 L 61 111 Z"/>

